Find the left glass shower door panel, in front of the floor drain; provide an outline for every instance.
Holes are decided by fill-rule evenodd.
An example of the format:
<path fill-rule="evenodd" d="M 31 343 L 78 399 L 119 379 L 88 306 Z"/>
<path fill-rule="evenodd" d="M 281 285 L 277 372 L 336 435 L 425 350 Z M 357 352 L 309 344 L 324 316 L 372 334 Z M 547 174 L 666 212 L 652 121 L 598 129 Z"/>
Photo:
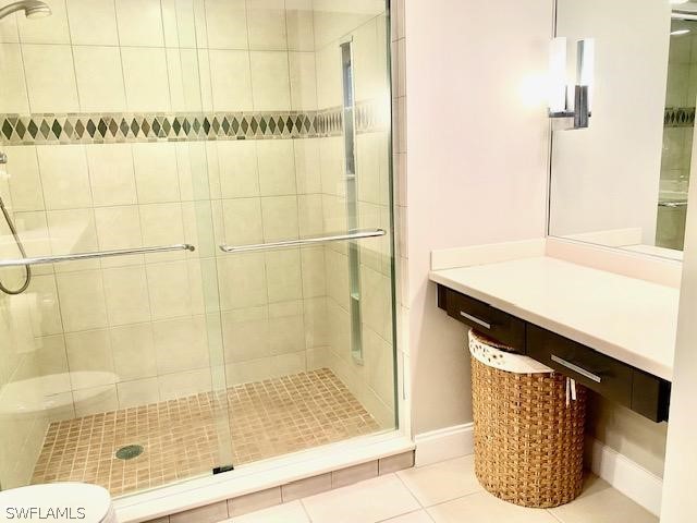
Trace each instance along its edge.
<path fill-rule="evenodd" d="M 0 20 L 0 485 L 225 470 L 204 2 L 47 3 Z"/>

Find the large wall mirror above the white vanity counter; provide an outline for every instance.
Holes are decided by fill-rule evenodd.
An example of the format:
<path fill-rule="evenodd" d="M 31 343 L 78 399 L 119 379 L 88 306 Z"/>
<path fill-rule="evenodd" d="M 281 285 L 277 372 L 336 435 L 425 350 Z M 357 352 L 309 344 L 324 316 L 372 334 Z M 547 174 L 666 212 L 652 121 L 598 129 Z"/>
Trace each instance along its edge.
<path fill-rule="evenodd" d="M 552 124 L 549 234 L 682 259 L 697 2 L 558 0 L 555 35 L 568 41 L 567 69 L 584 38 L 595 63 L 588 127 Z"/>

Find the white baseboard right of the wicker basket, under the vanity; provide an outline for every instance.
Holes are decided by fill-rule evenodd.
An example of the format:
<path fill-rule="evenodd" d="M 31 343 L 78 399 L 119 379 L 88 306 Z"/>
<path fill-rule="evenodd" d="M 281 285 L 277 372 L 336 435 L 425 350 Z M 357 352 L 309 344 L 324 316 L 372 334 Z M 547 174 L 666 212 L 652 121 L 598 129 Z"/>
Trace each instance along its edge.
<path fill-rule="evenodd" d="M 586 445 L 586 465 L 635 503 L 660 515 L 661 477 L 594 438 Z"/>

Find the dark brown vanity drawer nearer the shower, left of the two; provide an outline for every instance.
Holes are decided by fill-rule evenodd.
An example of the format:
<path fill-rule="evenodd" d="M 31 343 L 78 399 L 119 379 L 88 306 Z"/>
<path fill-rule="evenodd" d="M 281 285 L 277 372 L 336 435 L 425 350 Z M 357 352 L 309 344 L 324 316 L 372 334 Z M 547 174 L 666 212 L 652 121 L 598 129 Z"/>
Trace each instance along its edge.
<path fill-rule="evenodd" d="M 462 321 L 519 352 L 525 352 L 525 321 L 479 300 L 439 287 L 439 306 Z"/>

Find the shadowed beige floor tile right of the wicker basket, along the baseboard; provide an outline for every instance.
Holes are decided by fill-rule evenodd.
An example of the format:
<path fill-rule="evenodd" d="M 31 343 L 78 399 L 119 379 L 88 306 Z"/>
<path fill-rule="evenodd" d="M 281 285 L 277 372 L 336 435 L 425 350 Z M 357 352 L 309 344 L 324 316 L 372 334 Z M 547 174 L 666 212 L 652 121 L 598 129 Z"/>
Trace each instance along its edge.
<path fill-rule="evenodd" d="M 658 518 L 597 476 L 588 476 L 574 501 L 550 509 L 563 523 L 614 523 L 617 514 L 632 523 L 658 523 Z"/>

